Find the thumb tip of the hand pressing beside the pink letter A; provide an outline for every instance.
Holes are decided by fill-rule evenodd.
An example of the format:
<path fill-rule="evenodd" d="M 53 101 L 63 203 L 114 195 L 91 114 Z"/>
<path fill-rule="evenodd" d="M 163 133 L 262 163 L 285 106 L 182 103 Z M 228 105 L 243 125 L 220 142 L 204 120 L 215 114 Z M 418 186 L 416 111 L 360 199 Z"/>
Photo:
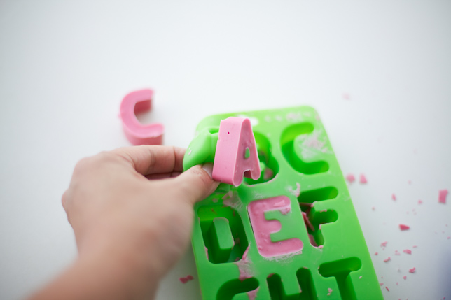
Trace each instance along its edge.
<path fill-rule="evenodd" d="M 219 183 L 211 178 L 212 171 L 213 164 L 207 163 L 202 166 L 199 164 L 174 178 L 182 197 L 194 204 L 214 192 Z"/>

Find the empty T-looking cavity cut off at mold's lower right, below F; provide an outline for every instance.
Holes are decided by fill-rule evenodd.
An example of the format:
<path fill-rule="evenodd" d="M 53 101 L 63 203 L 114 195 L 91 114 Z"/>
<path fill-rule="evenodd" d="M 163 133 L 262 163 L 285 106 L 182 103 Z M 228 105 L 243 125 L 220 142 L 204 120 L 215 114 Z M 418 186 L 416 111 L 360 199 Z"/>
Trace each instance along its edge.
<path fill-rule="evenodd" d="M 356 300 L 356 292 L 349 273 L 359 270 L 361 266 L 360 259 L 350 257 L 321 264 L 318 271 L 323 277 L 335 277 L 341 299 Z"/>

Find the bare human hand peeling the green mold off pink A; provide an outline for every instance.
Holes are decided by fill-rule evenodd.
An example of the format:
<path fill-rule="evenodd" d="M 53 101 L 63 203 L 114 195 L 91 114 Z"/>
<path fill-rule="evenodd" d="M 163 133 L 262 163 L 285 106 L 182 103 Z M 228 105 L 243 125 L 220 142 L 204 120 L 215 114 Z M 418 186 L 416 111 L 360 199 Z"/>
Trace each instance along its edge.
<path fill-rule="evenodd" d="M 155 294 L 158 281 L 189 243 L 193 204 L 218 186 L 211 179 L 211 164 L 181 173 L 184 152 L 142 145 L 78 162 L 62 204 L 79 258 L 75 271 L 59 278 L 54 289 L 83 290 L 83 284 L 75 289 L 67 281 L 85 280 L 91 293 L 78 294 L 78 299 Z"/>

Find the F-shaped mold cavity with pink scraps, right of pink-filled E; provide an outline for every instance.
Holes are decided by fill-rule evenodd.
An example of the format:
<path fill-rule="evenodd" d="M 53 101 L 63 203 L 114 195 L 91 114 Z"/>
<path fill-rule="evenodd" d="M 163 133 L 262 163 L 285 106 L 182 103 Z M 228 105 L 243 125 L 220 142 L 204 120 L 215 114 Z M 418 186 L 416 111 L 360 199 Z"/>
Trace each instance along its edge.
<path fill-rule="evenodd" d="M 323 187 L 317 190 L 301 192 L 298 197 L 299 207 L 303 215 L 310 244 L 314 247 L 324 245 L 324 236 L 321 233 L 321 224 L 335 222 L 338 214 L 335 210 L 317 211 L 312 208 L 315 201 L 335 199 L 338 190 L 335 187 Z"/>

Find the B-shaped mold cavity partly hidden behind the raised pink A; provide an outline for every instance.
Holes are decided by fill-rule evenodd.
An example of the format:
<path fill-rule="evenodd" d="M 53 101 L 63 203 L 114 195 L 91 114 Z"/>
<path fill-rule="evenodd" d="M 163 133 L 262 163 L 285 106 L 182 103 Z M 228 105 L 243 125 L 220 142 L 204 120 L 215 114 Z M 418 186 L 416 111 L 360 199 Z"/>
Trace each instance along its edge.
<path fill-rule="evenodd" d="M 271 153 L 271 144 L 268 138 L 263 134 L 254 131 L 255 141 L 257 145 L 258 159 L 260 160 L 261 175 L 257 180 L 252 178 L 244 178 L 244 183 L 248 185 L 256 185 L 257 183 L 265 183 L 275 178 L 279 172 L 279 164 Z"/>

